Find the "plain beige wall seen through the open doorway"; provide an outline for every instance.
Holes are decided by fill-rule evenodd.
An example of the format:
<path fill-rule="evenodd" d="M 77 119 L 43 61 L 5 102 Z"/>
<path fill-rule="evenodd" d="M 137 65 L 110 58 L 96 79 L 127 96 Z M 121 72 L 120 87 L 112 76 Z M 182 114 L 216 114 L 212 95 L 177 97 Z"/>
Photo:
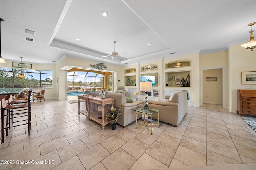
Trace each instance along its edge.
<path fill-rule="evenodd" d="M 206 81 L 206 77 L 216 77 L 217 81 Z M 203 70 L 203 102 L 222 104 L 222 69 Z"/>

